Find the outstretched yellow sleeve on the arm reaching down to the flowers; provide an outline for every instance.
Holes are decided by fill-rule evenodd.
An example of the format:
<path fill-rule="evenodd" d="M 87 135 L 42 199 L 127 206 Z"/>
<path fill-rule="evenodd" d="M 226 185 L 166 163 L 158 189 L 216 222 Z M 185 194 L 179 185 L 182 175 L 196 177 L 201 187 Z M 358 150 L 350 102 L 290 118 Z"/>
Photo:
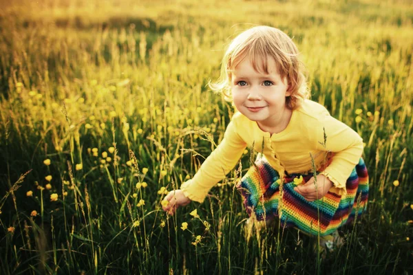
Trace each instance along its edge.
<path fill-rule="evenodd" d="M 242 156 L 246 142 L 237 133 L 237 122 L 234 120 L 226 127 L 224 139 L 205 159 L 195 176 L 184 182 L 180 189 L 192 201 L 202 203 L 209 190 L 231 171 Z"/>

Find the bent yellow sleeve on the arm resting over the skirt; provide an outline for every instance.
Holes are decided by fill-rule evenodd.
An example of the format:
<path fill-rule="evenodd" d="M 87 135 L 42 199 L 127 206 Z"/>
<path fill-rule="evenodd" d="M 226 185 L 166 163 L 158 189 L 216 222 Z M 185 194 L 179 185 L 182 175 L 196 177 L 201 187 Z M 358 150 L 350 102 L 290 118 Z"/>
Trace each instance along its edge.
<path fill-rule="evenodd" d="M 346 181 L 363 153 L 363 139 L 349 126 L 328 113 L 322 115 L 320 122 L 317 127 L 317 149 L 334 153 L 332 162 L 321 174 L 334 184 L 332 192 L 345 195 Z M 323 127 L 327 136 L 325 146 L 320 144 L 324 142 Z"/>

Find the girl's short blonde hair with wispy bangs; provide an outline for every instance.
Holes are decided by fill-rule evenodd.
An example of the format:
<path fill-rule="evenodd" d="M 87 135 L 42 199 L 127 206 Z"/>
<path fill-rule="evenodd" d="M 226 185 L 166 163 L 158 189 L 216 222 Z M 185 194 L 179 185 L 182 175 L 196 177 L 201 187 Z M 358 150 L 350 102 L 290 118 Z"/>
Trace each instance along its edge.
<path fill-rule="evenodd" d="M 233 39 L 222 58 L 220 78 L 217 83 L 209 83 L 209 87 L 224 94 L 227 101 L 232 101 L 232 70 L 248 57 L 256 72 L 268 74 L 268 57 L 272 57 L 280 76 L 288 81 L 290 96 L 286 98 L 286 107 L 297 109 L 302 100 L 310 97 L 303 73 L 304 65 L 298 56 L 293 40 L 281 30 L 268 26 L 248 29 Z"/>

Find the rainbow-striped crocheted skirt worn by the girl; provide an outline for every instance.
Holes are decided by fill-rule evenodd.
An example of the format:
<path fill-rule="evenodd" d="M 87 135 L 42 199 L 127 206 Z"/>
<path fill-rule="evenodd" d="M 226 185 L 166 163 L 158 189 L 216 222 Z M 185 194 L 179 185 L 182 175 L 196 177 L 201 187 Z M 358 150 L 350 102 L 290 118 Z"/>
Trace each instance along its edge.
<path fill-rule="evenodd" d="M 307 201 L 294 190 L 294 179 L 300 176 L 308 181 L 313 174 L 284 175 L 281 185 L 277 171 L 259 155 L 236 187 L 250 216 L 254 213 L 258 221 L 279 217 L 283 228 L 295 227 L 312 235 L 331 234 L 366 210 L 368 172 L 362 158 L 346 181 L 346 195 L 329 191 L 321 199 Z"/>

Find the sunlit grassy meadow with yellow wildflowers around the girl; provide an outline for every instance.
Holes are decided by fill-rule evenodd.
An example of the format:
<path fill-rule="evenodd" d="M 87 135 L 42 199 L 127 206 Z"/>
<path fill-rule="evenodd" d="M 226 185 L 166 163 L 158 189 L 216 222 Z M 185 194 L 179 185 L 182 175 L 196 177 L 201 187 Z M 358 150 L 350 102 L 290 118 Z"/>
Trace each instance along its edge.
<path fill-rule="evenodd" d="M 411 1 L 0 3 L 0 274 L 413 272 Z M 368 211 L 325 258 L 246 223 L 249 149 L 204 203 L 162 211 L 233 114 L 207 86 L 226 45 L 260 24 L 366 144 Z"/>

